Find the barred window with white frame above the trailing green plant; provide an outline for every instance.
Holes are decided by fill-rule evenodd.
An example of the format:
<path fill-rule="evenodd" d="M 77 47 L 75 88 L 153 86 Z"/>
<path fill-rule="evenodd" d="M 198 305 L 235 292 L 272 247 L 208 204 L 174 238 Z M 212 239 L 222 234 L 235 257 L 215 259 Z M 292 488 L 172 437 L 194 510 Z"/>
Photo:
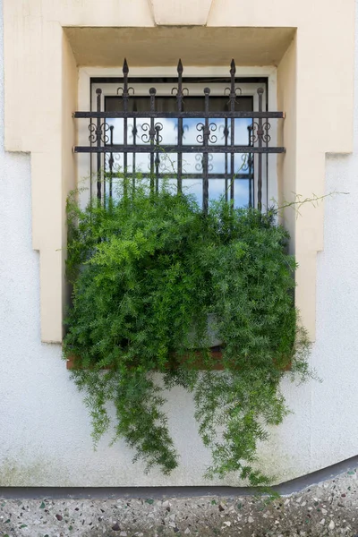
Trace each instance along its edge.
<path fill-rule="evenodd" d="M 236 207 L 268 205 L 268 153 L 276 138 L 268 120 L 267 79 L 236 79 L 232 61 L 228 77 L 177 76 L 129 78 L 124 61 L 122 79 L 92 79 L 90 118 L 91 195 L 107 202 L 127 177 L 138 174 L 150 187 L 163 181 L 192 193 L 202 209 L 224 196 Z M 272 175 L 272 174 L 271 174 Z M 272 189 L 271 189 L 272 190 Z M 274 189 L 274 192 L 276 189 Z"/>

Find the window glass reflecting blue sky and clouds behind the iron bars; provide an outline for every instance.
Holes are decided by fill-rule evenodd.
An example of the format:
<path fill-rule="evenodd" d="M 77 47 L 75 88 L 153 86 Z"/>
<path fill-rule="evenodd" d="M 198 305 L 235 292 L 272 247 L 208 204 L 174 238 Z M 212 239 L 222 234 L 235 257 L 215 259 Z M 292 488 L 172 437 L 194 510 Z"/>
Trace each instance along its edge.
<path fill-rule="evenodd" d="M 228 106 L 227 97 L 210 97 L 210 111 L 226 111 Z M 123 99 L 118 97 L 107 97 L 105 100 L 107 111 L 122 111 Z M 129 99 L 129 111 L 148 111 L 148 97 L 131 97 Z M 251 110 L 252 98 L 237 98 L 237 109 Z M 158 112 L 175 112 L 176 101 L 174 98 L 158 96 L 156 98 L 156 110 Z M 203 97 L 184 98 L 183 110 L 201 111 L 204 110 Z M 150 144 L 150 119 L 149 118 L 129 118 L 127 120 L 127 135 L 124 140 L 124 119 L 107 119 L 107 124 L 112 127 L 113 143 L 118 145 L 128 144 L 134 147 L 143 148 Z M 121 174 L 141 175 L 150 179 L 150 175 L 156 175 L 156 184 L 160 188 L 166 184 L 177 186 L 176 175 L 178 173 L 178 151 L 175 148 L 172 152 L 160 150 L 161 146 L 177 146 L 178 144 L 178 119 L 176 118 L 156 118 L 154 122 L 158 126 L 158 156 L 150 157 L 150 153 L 134 151 L 127 153 L 113 154 L 113 170 L 115 172 L 112 179 L 113 186 L 118 189 L 118 185 L 123 182 Z M 202 118 L 183 118 L 183 153 L 182 153 L 182 179 L 183 192 L 192 194 L 202 206 L 203 187 L 203 155 L 202 153 L 185 152 L 185 147 L 200 145 L 203 143 L 203 126 L 205 120 Z M 234 145 L 250 145 L 249 126 L 251 119 L 240 118 L 234 120 Z M 225 118 L 212 118 L 209 120 L 209 146 L 230 146 L 231 144 L 232 122 Z M 108 131 L 109 132 L 109 131 Z M 157 145 L 157 144 L 156 144 Z M 110 155 L 106 155 L 106 172 L 109 169 Z M 117 175 L 117 176 L 115 176 Z M 235 154 L 232 158 L 230 153 L 209 153 L 208 162 L 209 176 L 209 201 L 218 200 L 221 196 L 230 199 L 231 184 L 234 181 L 234 205 L 236 207 L 247 207 L 253 204 L 253 166 L 249 165 L 249 154 Z"/>

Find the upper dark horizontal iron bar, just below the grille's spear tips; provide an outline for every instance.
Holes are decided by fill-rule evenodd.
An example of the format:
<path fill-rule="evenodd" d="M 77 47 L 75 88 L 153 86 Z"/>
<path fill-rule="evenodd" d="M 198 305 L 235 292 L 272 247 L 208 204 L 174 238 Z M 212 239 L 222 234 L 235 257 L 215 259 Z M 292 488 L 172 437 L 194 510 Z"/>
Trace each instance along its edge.
<path fill-rule="evenodd" d="M 283 119 L 285 117 L 285 112 L 73 112 L 72 117 L 76 119 L 83 117 L 87 117 L 90 119 L 97 119 L 98 117 L 102 119 L 123 119 L 124 117 L 138 117 L 140 119 L 146 119 L 148 117 L 154 117 L 155 119 L 177 119 L 178 117 L 183 117 L 187 119 L 200 119 L 205 117 L 210 117 L 213 119 L 225 119 L 226 117 L 234 117 L 235 119 Z"/>

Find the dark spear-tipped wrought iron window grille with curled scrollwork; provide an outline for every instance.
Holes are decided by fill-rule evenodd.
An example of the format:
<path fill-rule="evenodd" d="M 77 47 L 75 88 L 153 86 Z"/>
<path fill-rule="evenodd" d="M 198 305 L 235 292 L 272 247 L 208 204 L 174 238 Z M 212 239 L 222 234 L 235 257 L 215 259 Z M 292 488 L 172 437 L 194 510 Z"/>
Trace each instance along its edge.
<path fill-rule="evenodd" d="M 283 112 L 268 112 L 263 110 L 262 95 L 263 89 L 259 88 L 258 110 L 238 111 L 235 109 L 237 98 L 241 94 L 240 88 L 235 84 L 235 64 L 232 60 L 230 65 L 230 88 L 226 88 L 227 98 L 226 110 L 210 110 L 210 89 L 203 90 L 204 107 L 197 110 L 185 110 L 185 98 L 189 91 L 183 88 L 183 64 L 181 60 L 177 65 L 177 86 L 172 90 L 175 111 L 158 110 L 158 96 L 156 88 L 149 89 L 149 97 L 146 98 L 148 105 L 145 111 L 137 111 L 130 107 L 131 98 L 134 95 L 133 88 L 129 85 L 129 68 L 126 60 L 123 66 L 123 85 L 118 88 L 117 94 L 121 98 L 121 110 L 106 111 L 101 109 L 102 90 L 97 93 L 97 110 L 89 112 L 74 112 L 73 117 L 78 119 L 88 119 L 89 142 L 88 146 L 76 146 L 75 153 L 90 153 L 96 155 L 97 173 L 97 198 L 98 201 L 105 201 L 107 197 L 113 195 L 113 181 L 115 177 L 131 177 L 133 184 L 138 172 L 136 158 L 141 153 L 149 154 L 149 182 L 152 190 L 159 188 L 159 181 L 165 176 L 161 170 L 161 156 L 170 155 L 176 157 L 175 179 L 178 192 L 183 191 L 183 180 L 199 179 L 202 182 L 202 209 L 208 211 L 209 207 L 209 181 L 210 179 L 222 179 L 225 181 L 226 200 L 234 200 L 235 179 L 246 179 L 249 181 L 250 193 L 248 205 L 255 205 L 254 202 L 254 177 L 257 181 L 257 208 L 262 209 L 262 178 L 263 178 L 263 158 L 268 154 L 285 152 L 284 147 L 272 147 L 270 119 L 283 119 Z M 235 143 L 235 120 L 251 120 L 247 126 L 247 144 L 238 145 Z M 123 121 L 123 142 L 115 143 L 115 127 L 108 121 L 120 119 Z M 161 119 L 175 120 L 177 130 L 176 143 L 166 143 L 163 140 L 163 124 Z M 138 124 L 139 121 L 144 123 Z M 196 143 L 185 145 L 185 121 L 196 120 Z M 217 122 L 215 121 L 217 120 Z M 220 123 L 218 128 L 218 123 Z M 140 132 L 141 130 L 141 132 Z M 221 139 L 218 135 L 221 131 Z M 132 141 L 130 139 L 132 138 Z M 221 143 L 219 143 L 221 141 Z M 123 156 L 123 173 L 118 175 L 115 171 L 115 155 Z M 188 173 L 183 166 L 183 155 L 195 154 L 195 172 Z M 224 156 L 223 171 L 217 173 L 213 171 L 210 163 L 215 155 Z M 239 170 L 235 170 L 235 156 L 242 156 L 242 165 Z M 256 160 L 254 158 L 256 157 Z M 131 159 L 131 166 L 129 165 Z M 257 170 L 254 173 L 254 167 Z"/>

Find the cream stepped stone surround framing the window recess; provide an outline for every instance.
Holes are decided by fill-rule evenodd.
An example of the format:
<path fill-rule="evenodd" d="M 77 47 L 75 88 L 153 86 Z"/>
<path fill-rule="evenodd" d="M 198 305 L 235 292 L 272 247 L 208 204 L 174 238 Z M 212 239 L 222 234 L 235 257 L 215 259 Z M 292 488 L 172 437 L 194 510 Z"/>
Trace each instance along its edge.
<path fill-rule="evenodd" d="M 182 7 L 187 1 L 183 0 Z M 277 109 L 286 112 L 281 137 L 287 153 L 278 159 L 277 166 L 280 200 L 293 200 L 294 192 L 303 198 L 312 192 L 322 195 L 326 154 L 352 151 L 354 0 L 344 4 L 340 0 L 303 0 L 294 6 L 286 0 L 273 0 L 270 10 L 266 0 L 254 0 L 251 9 L 242 0 L 198 0 L 201 9 L 194 14 L 200 13 L 202 18 L 207 13 L 207 26 L 197 28 L 193 26 L 203 22 L 191 20 L 189 9 L 186 14 L 183 9 L 176 13 L 173 2 L 106 0 L 98 13 L 98 3 L 92 0 L 73 4 L 47 0 L 45 7 L 39 0 L 4 0 L 5 149 L 31 154 L 33 247 L 40 252 L 41 338 L 45 342 L 60 343 L 63 337 L 68 300 L 64 282 L 65 200 L 77 181 L 72 111 L 78 108 L 78 64 L 92 67 L 89 42 L 97 44 L 97 53 L 106 58 L 104 67 L 109 67 L 107 61 L 113 63 L 106 50 L 113 49 L 110 43 L 114 35 L 116 42 L 132 50 L 133 57 L 141 52 L 141 47 L 136 50 L 139 30 L 147 38 L 166 39 L 167 27 L 156 23 L 177 25 L 168 35 L 182 35 L 186 47 L 192 43 L 193 61 L 184 59 L 185 64 L 210 64 L 213 58 L 223 64 L 222 56 L 210 47 L 210 42 L 215 42 L 225 49 L 226 40 L 215 38 L 220 29 L 227 35 L 230 58 L 235 57 L 233 36 L 237 38 L 238 55 L 242 56 L 242 62 L 235 57 L 238 65 L 262 65 L 265 54 L 271 54 L 277 66 Z M 183 23 L 186 28 L 179 28 Z M 291 38 L 286 41 L 283 29 L 287 36 L 291 29 Z M 195 36 L 205 36 L 205 32 L 214 37 L 208 38 L 207 51 L 195 56 Z M 332 39 L 333 35 L 337 37 Z M 262 44 L 260 49 L 258 43 Z M 167 64 L 170 47 L 163 53 L 168 56 Z M 150 56 L 142 63 L 149 62 Z M 284 224 L 292 235 L 292 250 L 299 263 L 296 303 L 313 339 L 323 204 L 318 209 L 304 206 L 298 218 L 293 209 L 287 209 Z"/>

